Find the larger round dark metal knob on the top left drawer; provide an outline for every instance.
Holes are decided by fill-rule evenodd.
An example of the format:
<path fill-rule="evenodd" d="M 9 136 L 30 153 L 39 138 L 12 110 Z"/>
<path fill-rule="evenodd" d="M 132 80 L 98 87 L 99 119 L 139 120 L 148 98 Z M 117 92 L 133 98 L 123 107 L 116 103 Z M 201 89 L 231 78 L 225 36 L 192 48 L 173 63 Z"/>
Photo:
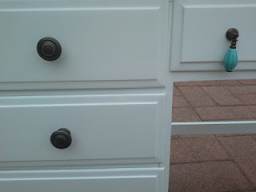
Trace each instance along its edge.
<path fill-rule="evenodd" d="M 38 54 L 46 61 L 54 61 L 62 54 L 62 46 L 55 38 L 42 38 L 38 42 Z"/>

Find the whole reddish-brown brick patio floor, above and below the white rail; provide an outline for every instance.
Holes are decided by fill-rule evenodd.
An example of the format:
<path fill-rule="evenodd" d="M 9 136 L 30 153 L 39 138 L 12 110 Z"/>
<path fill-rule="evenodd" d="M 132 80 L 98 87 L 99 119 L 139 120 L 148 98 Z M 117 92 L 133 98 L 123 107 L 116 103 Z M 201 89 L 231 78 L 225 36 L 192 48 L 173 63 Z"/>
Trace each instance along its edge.
<path fill-rule="evenodd" d="M 173 122 L 256 120 L 256 79 L 175 82 Z M 172 135 L 170 192 L 256 192 L 256 133 Z"/>

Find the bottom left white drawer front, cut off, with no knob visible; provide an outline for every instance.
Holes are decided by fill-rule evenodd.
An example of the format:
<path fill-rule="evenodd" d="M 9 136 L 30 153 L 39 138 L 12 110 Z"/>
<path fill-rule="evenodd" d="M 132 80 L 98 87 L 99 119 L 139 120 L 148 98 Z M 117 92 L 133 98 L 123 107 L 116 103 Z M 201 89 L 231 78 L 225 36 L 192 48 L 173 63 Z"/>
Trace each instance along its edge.
<path fill-rule="evenodd" d="M 158 192 L 163 169 L 0 172 L 2 192 Z"/>

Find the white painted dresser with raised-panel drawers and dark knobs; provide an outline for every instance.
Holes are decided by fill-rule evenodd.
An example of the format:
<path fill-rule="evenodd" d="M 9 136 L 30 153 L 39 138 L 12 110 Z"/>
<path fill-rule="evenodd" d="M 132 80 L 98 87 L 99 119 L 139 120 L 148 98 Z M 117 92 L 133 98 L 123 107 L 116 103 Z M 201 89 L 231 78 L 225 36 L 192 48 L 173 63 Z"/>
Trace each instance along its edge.
<path fill-rule="evenodd" d="M 254 77 L 255 38 L 223 71 L 255 32 L 233 10 L 256 3 L 0 0 L 0 191 L 166 192 L 173 81 Z"/>

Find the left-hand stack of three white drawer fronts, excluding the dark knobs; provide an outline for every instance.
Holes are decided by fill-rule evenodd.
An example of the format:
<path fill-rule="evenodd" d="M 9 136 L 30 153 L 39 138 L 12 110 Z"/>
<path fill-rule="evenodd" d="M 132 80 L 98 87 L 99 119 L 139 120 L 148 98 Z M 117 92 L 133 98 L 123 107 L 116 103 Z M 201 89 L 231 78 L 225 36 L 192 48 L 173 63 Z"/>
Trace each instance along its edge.
<path fill-rule="evenodd" d="M 166 162 L 168 2 L 21 0 L 0 6 L 1 190 L 166 190 L 167 171 L 152 167 Z M 45 36 L 62 45 L 55 62 L 36 53 Z M 60 127 L 71 130 L 66 150 L 50 144 Z M 70 174 L 71 167 L 77 170 Z"/>

